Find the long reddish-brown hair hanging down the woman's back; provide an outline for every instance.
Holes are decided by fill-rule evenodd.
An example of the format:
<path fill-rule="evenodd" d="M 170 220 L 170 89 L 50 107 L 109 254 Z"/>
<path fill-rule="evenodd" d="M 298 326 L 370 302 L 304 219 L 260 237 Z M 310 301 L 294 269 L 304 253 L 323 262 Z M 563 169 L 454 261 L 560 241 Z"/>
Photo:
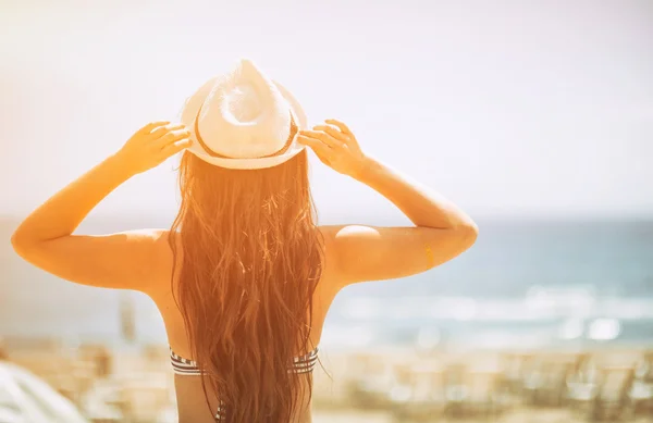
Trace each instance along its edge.
<path fill-rule="evenodd" d="M 172 291 L 207 405 L 214 413 L 220 400 L 230 423 L 289 422 L 307 388 L 310 400 L 311 374 L 288 369 L 316 347 L 310 316 L 324 257 L 306 151 L 262 170 L 185 152 L 178 179 Z"/>

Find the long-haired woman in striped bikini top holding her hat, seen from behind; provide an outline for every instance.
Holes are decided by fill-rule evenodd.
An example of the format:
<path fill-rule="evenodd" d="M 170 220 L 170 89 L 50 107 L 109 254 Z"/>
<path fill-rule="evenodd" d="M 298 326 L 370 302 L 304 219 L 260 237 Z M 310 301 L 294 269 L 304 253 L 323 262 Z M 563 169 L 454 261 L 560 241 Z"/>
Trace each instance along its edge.
<path fill-rule="evenodd" d="M 326 311 L 345 286 L 424 272 L 476 240 L 457 207 L 366 155 L 247 60 L 207 82 L 181 124 L 153 122 L 34 211 L 12 242 L 62 278 L 147 294 L 163 318 L 181 422 L 310 422 Z M 385 196 L 412 227 L 317 226 L 305 146 Z M 73 235 L 130 177 L 185 150 L 172 228 Z"/>

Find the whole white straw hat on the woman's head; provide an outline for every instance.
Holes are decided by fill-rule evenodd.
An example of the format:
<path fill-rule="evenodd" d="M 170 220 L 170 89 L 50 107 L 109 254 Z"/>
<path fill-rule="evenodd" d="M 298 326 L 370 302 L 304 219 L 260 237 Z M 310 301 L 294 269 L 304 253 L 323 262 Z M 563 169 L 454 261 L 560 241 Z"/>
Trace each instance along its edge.
<path fill-rule="evenodd" d="M 264 169 L 292 159 L 304 149 L 295 140 L 297 128 L 307 127 L 293 95 L 247 59 L 186 100 L 182 123 L 190 130 L 188 151 L 230 169 Z"/>

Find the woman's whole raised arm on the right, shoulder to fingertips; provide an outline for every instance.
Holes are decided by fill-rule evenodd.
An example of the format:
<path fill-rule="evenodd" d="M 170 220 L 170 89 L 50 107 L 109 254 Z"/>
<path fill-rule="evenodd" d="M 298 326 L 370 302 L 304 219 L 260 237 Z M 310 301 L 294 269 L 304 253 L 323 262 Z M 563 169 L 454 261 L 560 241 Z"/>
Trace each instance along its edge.
<path fill-rule="evenodd" d="M 464 211 L 435 191 L 362 154 L 354 134 L 343 123 L 333 120 L 326 123 L 300 133 L 299 139 L 323 163 L 373 188 L 415 224 L 414 227 L 322 226 L 337 288 L 421 273 L 473 245 L 478 227 Z"/>

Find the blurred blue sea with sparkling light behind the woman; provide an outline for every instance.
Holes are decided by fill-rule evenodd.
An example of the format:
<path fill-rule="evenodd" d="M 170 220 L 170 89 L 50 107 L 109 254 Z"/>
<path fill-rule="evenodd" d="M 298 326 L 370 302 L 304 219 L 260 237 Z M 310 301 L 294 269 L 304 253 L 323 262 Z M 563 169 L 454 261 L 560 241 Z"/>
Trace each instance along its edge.
<path fill-rule="evenodd" d="M 0 221 L 7 240 L 0 337 L 121 343 L 121 308 L 128 307 L 136 341 L 167 341 L 145 295 L 75 285 L 24 263 L 9 245 L 15 224 Z M 108 226 L 120 222 L 97 224 L 95 232 Z M 477 244 L 448 263 L 343 289 L 321 345 L 653 347 L 653 219 L 506 219 L 479 221 L 479 227 Z"/>

